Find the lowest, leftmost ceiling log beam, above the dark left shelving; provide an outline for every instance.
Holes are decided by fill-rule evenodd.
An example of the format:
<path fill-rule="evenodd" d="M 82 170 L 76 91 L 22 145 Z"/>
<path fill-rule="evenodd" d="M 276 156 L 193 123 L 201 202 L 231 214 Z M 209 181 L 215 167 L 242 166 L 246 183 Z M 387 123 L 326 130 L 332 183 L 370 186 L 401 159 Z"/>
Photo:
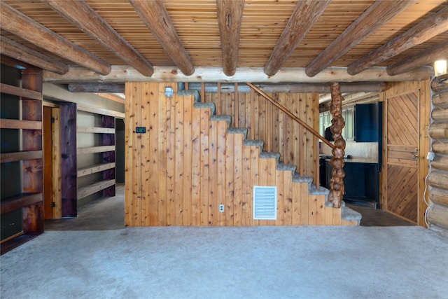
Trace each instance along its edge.
<path fill-rule="evenodd" d="M 0 53 L 16 60 L 27 62 L 36 67 L 40 67 L 41 69 L 54 71 L 56 74 L 62 75 L 69 71 L 68 65 L 38 53 L 33 49 L 22 46 L 20 43 L 6 39 L 4 36 L 0 36 Z"/>

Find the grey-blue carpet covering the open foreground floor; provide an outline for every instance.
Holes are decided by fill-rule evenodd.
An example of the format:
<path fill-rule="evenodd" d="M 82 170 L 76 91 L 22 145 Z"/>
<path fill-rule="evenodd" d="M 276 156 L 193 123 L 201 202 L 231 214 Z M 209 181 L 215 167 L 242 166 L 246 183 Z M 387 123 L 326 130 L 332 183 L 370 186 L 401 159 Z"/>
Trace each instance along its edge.
<path fill-rule="evenodd" d="M 50 231 L 1 256 L 1 298 L 447 298 L 421 227 Z"/>

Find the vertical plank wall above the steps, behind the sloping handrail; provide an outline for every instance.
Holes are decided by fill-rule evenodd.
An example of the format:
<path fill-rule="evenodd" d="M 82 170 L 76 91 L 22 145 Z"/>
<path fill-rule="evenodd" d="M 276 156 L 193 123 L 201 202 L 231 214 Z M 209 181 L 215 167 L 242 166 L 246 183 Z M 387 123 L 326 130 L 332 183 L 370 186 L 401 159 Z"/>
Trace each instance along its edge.
<path fill-rule="evenodd" d="M 272 93 L 267 95 L 317 130 L 317 93 Z M 219 97 L 221 97 L 220 102 L 218 102 Z M 297 172 L 300 171 L 298 167 L 301 165 L 300 155 L 302 155 L 302 173 L 316 178 L 313 135 L 307 130 L 300 130 L 298 123 L 279 111 L 257 92 L 239 92 L 237 96 L 234 92 L 221 92 L 221 94 L 206 92 L 202 102 L 214 103 L 218 115 L 232 116 L 231 127 L 247 127 L 247 139 L 265 141 L 263 151 L 280 153 L 280 160 L 285 164 L 297 165 Z M 301 148 L 303 148 L 303 153 L 300 153 Z"/>

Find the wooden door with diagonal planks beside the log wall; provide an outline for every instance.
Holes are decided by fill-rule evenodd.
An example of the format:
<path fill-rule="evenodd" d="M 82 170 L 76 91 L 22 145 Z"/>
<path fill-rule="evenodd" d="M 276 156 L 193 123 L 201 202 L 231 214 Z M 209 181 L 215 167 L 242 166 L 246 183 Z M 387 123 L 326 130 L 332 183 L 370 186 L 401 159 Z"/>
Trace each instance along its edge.
<path fill-rule="evenodd" d="M 386 210 L 414 223 L 419 194 L 419 90 L 386 99 Z"/>

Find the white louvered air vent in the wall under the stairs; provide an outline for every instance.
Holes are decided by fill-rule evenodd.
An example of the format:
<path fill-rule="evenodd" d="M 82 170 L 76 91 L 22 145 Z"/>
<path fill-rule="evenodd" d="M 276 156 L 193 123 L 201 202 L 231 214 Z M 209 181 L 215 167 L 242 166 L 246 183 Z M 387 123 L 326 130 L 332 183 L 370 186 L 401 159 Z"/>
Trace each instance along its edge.
<path fill-rule="evenodd" d="M 253 186 L 253 219 L 276 220 L 276 186 Z"/>

